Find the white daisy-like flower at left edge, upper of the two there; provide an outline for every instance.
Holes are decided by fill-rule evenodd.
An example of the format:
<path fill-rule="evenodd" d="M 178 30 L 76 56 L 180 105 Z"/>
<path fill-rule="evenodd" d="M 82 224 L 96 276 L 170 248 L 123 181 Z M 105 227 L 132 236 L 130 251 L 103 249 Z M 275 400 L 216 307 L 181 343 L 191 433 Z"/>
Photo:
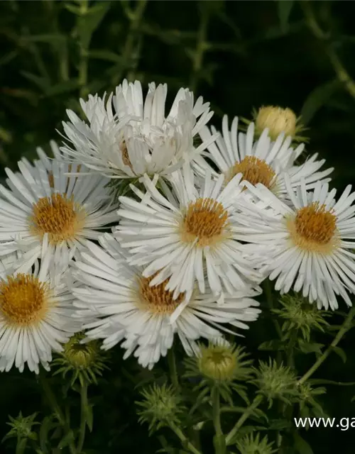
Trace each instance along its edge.
<path fill-rule="evenodd" d="M 58 150 L 53 143 L 52 149 Z M 48 243 L 53 259 L 67 262 L 84 240 L 97 238 L 102 228 L 119 219 L 106 188 L 108 179 L 80 175 L 85 173 L 82 165 L 50 159 L 41 149 L 38 155 L 33 165 L 26 159 L 18 162 L 20 172 L 6 169 L 9 189 L 0 185 L 0 255 L 26 251 L 21 259 L 25 268 Z"/>

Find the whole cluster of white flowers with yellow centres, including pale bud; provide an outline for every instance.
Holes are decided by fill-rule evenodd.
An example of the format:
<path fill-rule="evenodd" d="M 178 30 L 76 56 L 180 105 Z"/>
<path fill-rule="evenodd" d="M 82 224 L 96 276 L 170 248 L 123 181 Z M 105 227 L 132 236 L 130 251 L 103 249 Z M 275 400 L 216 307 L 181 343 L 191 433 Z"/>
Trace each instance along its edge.
<path fill-rule="evenodd" d="M 201 338 L 221 345 L 258 318 L 266 278 L 318 308 L 351 305 L 355 194 L 335 198 L 317 155 L 297 163 L 292 112 L 263 108 L 244 132 L 225 116 L 219 132 L 202 98 L 180 89 L 166 114 L 167 94 L 124 81 L 90 95 L 53 157 L 6 169 L 0 370 L 48 368 L 83 332 L 143 367 L 175 338 L 199 356 Z"/>

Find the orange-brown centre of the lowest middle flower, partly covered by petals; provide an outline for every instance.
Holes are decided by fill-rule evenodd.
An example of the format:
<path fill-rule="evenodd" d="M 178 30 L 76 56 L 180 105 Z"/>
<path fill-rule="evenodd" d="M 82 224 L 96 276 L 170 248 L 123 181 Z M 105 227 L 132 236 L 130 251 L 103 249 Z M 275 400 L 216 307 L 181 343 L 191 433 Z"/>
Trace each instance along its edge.
<path fill-rule="evenodd" d="M 161 284 L 150 286 L 149 284 L 153 277 L 140 278 L 138 291 L 140 303 L 146 306 L 148 311 L 153 312 L 153 314 L 173 314 L 185 298 L 185 293 L 180 294 L 177 299 L 173 299 L 173 292 L 165 290 L 169 279 L 165 279 Z"/>

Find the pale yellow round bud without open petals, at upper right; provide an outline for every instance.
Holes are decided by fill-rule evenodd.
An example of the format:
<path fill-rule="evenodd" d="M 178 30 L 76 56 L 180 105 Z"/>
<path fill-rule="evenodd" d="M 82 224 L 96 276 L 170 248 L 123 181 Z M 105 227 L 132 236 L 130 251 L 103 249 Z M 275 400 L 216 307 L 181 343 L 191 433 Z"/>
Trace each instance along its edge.
<path fill-rule="evenodd" d="M 261 134 L 265 128 L 275 140 L 280 133 L 294 137 L 297 128 L 297 117 L 291 109 L 282 109 L 275 106 L 263 106 L 258 110 L 255 121 L 256 132 Z"/>

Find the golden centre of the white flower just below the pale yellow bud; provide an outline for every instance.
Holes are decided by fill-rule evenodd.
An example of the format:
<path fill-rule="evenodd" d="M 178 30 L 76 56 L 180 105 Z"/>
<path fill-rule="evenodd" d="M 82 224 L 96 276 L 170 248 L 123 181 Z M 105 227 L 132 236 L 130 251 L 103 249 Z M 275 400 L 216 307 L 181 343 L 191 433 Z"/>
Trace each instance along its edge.
<path fill-rule="evenodd" d="M 242 173 L 243 179 L 254 186 L 261 183 L 268 189 L 271 189 L 274 182 L 275 172 L 262 159 L 256 156 L 246 156 L 241 162 L 236 162 L 226 176 L 227 181 L 230 181 L 235 175 Z"/>

